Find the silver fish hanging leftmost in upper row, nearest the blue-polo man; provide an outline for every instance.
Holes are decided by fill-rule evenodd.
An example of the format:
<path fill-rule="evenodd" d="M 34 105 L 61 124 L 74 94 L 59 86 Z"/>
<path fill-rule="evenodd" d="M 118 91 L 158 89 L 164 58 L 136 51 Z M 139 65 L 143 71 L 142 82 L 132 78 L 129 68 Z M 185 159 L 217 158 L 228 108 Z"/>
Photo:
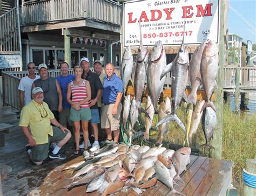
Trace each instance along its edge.
<path fill-rule="evenodd" d="M 130 46 L 126 47 L 121 64 L 121 79 L 123 80 L 124 94 L 133 71 L 133 55 Z"/>

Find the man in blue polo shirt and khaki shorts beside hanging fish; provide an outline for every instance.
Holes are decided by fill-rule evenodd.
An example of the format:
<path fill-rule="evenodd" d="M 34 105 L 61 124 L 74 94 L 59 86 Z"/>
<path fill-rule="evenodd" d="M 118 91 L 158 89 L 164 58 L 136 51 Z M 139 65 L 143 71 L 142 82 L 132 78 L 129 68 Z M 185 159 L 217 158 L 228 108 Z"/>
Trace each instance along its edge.
<path fill-rule="evenodd" d="M 104 107 L 100 119 L 102 129 L 105 129 L 107 139 L 105 143 L 118 143 L 120 134 L 120 113 L 122 110 L 123 81 L 114 73 L 114 65 L 106 64 L 106 76 L 103 83 Z M 114 141 L 112 139 L 112 132 Z"/>

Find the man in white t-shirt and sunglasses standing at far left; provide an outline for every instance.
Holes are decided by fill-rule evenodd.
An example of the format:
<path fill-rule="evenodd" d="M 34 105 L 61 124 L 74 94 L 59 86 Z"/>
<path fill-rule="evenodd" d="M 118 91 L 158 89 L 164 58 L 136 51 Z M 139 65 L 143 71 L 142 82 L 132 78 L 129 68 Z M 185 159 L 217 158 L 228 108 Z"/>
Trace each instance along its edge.
<path fill-rule="evenodd" d="M 36 66 L 33 62 L 29 62 L 27 67 L 28 67 L 27 70 L 29 72 L 29 75 L 21 79 L 18 87 L 19 96 L 21 99 L 21 105 L 20 105 L 21 109 L 31 101 L 31 87 L 32 87 L 33 81 L 40 78 L 39 75 L 35 75 Z"/>

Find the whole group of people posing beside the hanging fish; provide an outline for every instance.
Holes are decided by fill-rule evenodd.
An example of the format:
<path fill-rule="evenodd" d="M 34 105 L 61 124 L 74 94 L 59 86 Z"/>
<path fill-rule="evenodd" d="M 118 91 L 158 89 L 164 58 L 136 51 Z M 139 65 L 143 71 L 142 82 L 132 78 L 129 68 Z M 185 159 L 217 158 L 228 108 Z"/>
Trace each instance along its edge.
<path fill-rule="evenodd" d="M 57 78 L 49 76 L 45 64 L 38 66 L 39 76 L 35 75 L 33 62 L 27 68 L 29 74 L 18 87 L 22 109 L 19 127 L 28 138 L 26 151 L 33 163 L 42 164 L 48 155 L 52 159 L 65 159 L 59 150 L 71 138 L 69 129 L 75 137 L 74 153 L 78 155 L 81 148 L 88 151 L 89 123 L 95 138 L 90 151 L 100 148 L 99 123 L 107 135 L 103 143 L 118 143 L 123 82 L 114 73 L 112 63 L 106 64 L 104 75 L 100 60 L 94 62 L 92 72 L 89 59 L 83 57 L 73 67 L 72 75 L 68 63 L 62 62 Z M 80 135 L 84 142 L 79 145 Z M 50 153 L 49 148 L 52 148 Z"/>

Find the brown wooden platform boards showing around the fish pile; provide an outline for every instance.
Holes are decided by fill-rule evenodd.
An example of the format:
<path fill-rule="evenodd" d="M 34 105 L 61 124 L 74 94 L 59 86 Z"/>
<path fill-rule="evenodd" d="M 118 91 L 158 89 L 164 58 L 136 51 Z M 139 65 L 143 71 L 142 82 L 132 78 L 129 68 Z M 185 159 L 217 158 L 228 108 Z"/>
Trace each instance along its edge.
<path fill-rule="evenodd" d="M 86 185 L 72 188 L 68 191 L 61 189 L 68 185 L 71 179 L 70 174 L 61 170 L 72 163 L 78 162 L 83 157 L 78 157 L 68 163 L 60 165 L 44 179 L 44 183 L 29 195 L 40 193 L 42 195 L 100 195 L 99 192 L 86 193 Z M 226 195 L 227 188 L 230 187 L 232 177 L 232 162 L 217 160 L 207 157 L 191 155 L 191 163 L 187 166 L 187 171 L 181 174 L 185 185 L 178 183 L 174 188 L 185 195 Z M 54 185 L 54 186 L 52 186 Z M 140 195 L 166 195 L 170 190 L 160 181 L 151 188 L 148 188 Z M 132 188 L 127 191 L 119 191 L 117 195 L 139 195 Z"/>

